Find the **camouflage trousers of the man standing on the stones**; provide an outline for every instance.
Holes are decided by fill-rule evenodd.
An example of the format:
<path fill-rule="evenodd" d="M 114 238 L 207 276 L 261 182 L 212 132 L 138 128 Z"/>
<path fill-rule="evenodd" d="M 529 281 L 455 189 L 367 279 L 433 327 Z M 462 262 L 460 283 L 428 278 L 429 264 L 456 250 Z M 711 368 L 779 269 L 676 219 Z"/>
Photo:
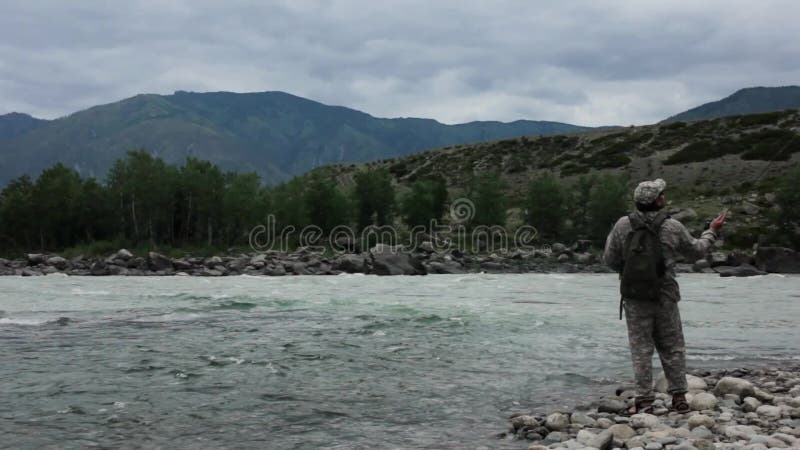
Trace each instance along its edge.
<path fill-rule="evenodd" d="M 686 386 L 686 345 L 678 303 L 625 300 L 625 322 L 631 347 L 636 395 L 653 398 L 653 349 L 658 350 L 670 394 L 682 394 Z"/>

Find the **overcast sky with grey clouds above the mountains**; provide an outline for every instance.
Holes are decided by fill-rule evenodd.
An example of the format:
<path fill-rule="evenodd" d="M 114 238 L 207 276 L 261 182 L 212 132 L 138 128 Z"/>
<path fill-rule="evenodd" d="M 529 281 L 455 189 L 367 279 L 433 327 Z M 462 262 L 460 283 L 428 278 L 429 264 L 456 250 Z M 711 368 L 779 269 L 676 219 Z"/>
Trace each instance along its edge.
<path fill-rule="evenodd" d="M 3 0 L 0 114 L 286 91 L 379 117 L 653 123 L 800 84 L 800 1 Z"/>

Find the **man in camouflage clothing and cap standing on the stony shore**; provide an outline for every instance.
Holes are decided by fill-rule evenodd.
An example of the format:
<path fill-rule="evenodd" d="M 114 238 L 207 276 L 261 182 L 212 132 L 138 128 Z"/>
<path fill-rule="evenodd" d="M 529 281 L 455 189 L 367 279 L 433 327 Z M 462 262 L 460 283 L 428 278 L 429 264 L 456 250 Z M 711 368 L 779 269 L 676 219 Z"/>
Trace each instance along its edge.
<path fill-rule="evenodd" d="M 652 222 L 666 205 L 665 188 L 666 183 L 661 179 L 639 183 L 633 195 L 636 204 L 633 214 L 644 222 Z M 699 257 L 708 252 L 724 222 L 725 213 L 722 213 L 711 222 L 711 227 L 703 232 L 700 239 L 695 239 L 679 221 L 669 217 L 664 220 L 658 233 L 665 268 L 659 300 L 622 299 L 636 378 L 636 401 L 631 413 L 649 409 L 655 400 L 652 375 L 654 348 L 658 350 L 669 383 L 673 408 L 681 412 L 688 410 L 685 398 L 686 349 L 678 311 L 681 296 L 675 280 L 675 263 L 681 256 Z M 622 271 L 623 248 L 631 231 L 630 218 L 625 216 L 617 221 L 606 239 L 603 259 L 617 272 Z"/>

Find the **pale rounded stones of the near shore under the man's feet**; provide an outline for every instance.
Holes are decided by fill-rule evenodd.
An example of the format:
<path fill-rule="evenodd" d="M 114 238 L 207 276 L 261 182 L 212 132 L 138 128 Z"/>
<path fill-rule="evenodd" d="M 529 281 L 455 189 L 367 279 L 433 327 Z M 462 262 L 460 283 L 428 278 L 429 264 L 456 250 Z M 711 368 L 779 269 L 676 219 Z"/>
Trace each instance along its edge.
<path fill-rule="evenodd" d="M 499 437 L 532 441 L 529 450 L 800 448 L 800 366 L 694 371 L 687 378 L 692 411 L 686 414 L 667 408 L 662 376 L 652 414 L 619 414 L 635 396 L 621 386 L 572 412 L 515 414 Z"/>

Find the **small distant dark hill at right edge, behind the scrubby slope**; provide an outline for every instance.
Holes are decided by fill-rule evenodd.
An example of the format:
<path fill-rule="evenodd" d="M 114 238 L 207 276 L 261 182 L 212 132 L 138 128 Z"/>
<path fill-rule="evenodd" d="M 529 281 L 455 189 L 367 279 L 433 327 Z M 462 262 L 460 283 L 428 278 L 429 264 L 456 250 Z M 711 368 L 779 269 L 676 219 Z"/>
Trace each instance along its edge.
<path fill-rule="evenodd" d="M 753 87 L 740 89 L 722 100 L 676 114 L 664 122 L 715 119 L 797 108 L 800 108 L 800 86 Z"/>

